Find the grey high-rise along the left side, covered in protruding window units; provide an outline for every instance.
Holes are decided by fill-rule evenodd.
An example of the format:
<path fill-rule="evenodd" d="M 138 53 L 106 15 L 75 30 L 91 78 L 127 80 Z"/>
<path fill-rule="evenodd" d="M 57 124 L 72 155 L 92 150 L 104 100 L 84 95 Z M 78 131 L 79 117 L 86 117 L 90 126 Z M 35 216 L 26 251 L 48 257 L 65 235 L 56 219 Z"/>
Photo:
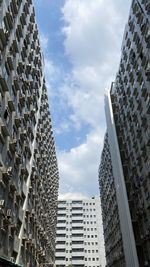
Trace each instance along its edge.
<path fill-rule="evenodd" d="M 58 176 L 32 0 L 1 0 L 0 262 L 54 262 Z"/>

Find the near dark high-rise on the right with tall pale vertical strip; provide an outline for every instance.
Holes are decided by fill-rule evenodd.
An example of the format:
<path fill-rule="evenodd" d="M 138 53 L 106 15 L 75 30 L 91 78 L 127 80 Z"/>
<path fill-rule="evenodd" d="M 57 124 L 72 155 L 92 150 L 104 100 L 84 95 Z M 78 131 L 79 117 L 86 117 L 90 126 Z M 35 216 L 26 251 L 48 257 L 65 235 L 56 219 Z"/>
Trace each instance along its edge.
<path fill-rule="evenodd" d="M 105 98 L 128 267 L 150 266 L 150 2 L 132 1 L 119 71 Z"/>

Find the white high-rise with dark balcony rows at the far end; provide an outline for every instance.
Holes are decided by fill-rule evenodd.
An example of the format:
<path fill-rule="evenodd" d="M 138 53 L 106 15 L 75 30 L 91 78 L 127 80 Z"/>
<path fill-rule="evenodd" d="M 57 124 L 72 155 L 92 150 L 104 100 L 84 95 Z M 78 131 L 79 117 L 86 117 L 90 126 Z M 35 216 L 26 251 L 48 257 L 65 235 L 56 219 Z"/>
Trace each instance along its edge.
<path fill-rule="evenodd" d="M 105 252 L 100 199 L 58 203 L 56 266 L 104 267 Z"/>

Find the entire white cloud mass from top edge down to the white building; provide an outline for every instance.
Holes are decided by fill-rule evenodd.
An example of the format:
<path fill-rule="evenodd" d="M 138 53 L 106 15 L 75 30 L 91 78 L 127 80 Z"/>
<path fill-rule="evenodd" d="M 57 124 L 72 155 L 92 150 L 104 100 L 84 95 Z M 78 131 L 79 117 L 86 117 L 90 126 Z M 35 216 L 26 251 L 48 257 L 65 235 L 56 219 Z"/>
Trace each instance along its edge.
<path fill-rule="evenodd" d="M 65 53 L 73 69 L 61 88 L 61 97 L 73 109 L 69 119 L 76 127 L 83 122 L 91 126 L 83 144 L 59 152 L 63 194 L 65 184 L 84 195 L 93 194 L 96 187 L 98 190 L 105 132 L 104 91 L 118 70 L 129 4 L 130 0 L 66 0 L 62 9 Z"/>

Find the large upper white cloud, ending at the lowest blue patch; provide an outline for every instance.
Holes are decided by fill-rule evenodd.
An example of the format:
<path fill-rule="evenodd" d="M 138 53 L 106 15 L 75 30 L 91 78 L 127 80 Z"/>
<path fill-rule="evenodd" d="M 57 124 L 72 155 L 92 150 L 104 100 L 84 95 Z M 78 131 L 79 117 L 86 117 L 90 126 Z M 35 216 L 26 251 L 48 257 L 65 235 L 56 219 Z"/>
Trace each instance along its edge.
<path fill-rule="evenodd" d="M 96 127 L 104 120 L 104 90 L 110 87 L 118 69 L 127 19 L 122 14 L 127 13 L 127 6 L 123 0 L 65 2 L 64 45 L 73 64 L 71 79 L 78 86 L 70 82 L 64 87 L 64 95 L 78 124 L 85 121 Z"/>

